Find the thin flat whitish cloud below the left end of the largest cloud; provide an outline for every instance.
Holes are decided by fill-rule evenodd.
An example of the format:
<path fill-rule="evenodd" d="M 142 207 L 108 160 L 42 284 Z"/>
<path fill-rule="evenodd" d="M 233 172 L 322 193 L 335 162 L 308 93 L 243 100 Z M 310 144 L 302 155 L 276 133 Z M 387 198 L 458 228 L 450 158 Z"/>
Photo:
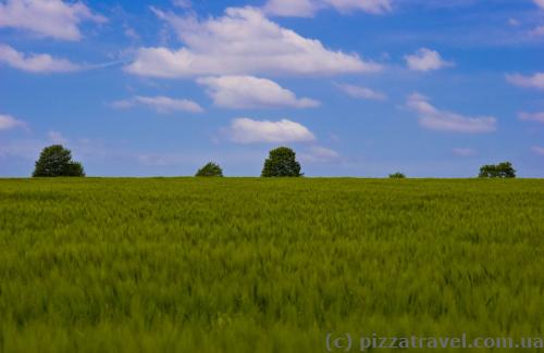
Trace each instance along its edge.
<path fill-rule="evenodd" d="M 132 99 L 121 100 L 112 103 L 113 108 L 127 109 L 143 104 L 153 108 L 159 113 L 190 112 L 201 113 L 203 109 L 196 102 L 187 99 L 174 99 L 169 97 L 143 97 L 136 96 Z"/>

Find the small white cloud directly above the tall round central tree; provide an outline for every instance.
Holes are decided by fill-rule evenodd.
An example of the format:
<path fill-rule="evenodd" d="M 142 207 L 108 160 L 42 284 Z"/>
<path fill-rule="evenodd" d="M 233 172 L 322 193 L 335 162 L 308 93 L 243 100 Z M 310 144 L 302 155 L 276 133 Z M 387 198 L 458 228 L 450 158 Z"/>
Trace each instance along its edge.
<path fill-rule="evenodd" d="M 309 142 L 316 136 L 304 125 L 282 119 L 280 122 L 235 118 L 231 123 L 231 139 L 237 143 Z"/>

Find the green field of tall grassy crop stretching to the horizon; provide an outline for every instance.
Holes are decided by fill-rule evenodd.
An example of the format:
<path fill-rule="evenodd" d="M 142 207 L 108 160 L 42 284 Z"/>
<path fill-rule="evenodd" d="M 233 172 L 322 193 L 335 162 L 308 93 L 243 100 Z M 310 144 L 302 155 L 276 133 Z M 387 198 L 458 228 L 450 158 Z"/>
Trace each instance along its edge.
<path fill-rule="evenodd" d="M 0 180 L 4 352 L 326 352 L 543 314 L 544 180 Z"/>

